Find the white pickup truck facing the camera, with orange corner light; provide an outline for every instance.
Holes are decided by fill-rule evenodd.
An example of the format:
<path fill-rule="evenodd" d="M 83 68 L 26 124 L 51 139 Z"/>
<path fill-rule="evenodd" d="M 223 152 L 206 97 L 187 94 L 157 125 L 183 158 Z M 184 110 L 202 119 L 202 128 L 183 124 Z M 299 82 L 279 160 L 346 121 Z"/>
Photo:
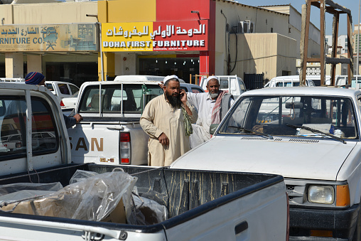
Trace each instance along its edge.
<path fill-rule="evenodd" d="M 279 174 L 289 194 L 290 240 L 361 240 L 360 109 L 360 90 L 247 91 L 212 139 L 171 168 Z"/>

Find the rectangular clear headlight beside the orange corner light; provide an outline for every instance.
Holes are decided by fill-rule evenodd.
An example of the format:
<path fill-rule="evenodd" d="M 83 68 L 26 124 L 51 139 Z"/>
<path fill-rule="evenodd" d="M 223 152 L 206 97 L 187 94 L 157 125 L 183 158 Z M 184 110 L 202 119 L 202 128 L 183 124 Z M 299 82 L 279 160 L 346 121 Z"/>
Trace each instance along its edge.
<path fill-rule="evenodd" d="M 335 189 L 333 186 L 309 186 L 308 201 L 310 203 L 333 204 Z"/>

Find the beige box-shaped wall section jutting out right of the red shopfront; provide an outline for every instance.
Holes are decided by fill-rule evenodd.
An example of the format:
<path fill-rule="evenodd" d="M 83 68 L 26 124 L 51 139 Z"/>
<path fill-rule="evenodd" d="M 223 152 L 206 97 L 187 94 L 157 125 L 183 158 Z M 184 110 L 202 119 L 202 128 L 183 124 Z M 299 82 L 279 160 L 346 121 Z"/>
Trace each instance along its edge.
<path fill-rule="evenodd" d="M 235 65 L 236 35 L 230 36 L 231 66 Z M 265 79 L 289 71 L 296 75 L 296 40 L 278 33 L 237 34 L 237 63 L 235 73 L 264 73 Z"/>

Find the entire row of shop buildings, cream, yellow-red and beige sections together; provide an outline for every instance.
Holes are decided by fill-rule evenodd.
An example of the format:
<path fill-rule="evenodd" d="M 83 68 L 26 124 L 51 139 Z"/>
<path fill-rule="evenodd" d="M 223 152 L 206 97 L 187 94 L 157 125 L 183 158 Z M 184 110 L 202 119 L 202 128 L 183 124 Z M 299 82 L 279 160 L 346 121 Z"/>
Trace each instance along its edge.
<path fill-rule="evenodd" d="M 0 77 L 38 71 L 46 80 L 78 86 L 117 75 L 174 74 L 197 83 L 199 75 L 254 74 L 266 80 L 295 75 L 299 58 L 295 23 L 301 14 L 291 6 L 112 0 L 2 4 L 0 15 Z"/>

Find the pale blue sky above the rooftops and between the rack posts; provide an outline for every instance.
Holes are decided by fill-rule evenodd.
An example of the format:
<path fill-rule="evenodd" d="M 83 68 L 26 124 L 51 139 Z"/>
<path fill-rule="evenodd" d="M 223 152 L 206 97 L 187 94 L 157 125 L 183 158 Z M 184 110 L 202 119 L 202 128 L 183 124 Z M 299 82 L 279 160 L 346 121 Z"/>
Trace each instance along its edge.
<path fill-rule="evenodd" d="M 269 5 L 283 5 L 291 4 L 297 11 L 302 12 L 302 4 L 306 4 L 305 0 L 236 0 L 240 4 L 246 4 L 250 6 L 269 6 Z M 344 6 L 347 9 L 351 10 L 352 15 L 352 31 L 353 26 L 357 24 L 358 21 L 358 12 L 359 12 L 359 2 L 360 0 L 333 0 L 335 4 Z M 325 14 L 325 28 L 326 35 L 332 35 L 332 23 L 333 15 L 326 13 Z M 320 10 L 316 6 L 311 6 L 311 22 L 319 29 L 320 28 Z M 361 20 L 360 20 L 361 22 Z M 347 34 L 347 15 L 340 14 L 340 23 L 338 35 Z"/>

